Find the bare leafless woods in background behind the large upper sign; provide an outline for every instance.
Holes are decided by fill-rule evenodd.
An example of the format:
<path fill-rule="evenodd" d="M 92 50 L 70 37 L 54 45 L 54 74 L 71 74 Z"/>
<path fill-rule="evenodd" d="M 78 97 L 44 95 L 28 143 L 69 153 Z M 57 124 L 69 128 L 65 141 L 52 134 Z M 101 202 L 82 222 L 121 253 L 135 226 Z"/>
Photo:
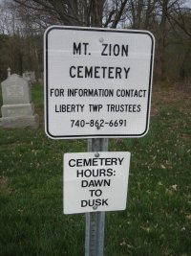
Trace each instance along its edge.
<path fill-rule="evenodd" d="M 191 6 L 183 0 L 3 0 L 0 4 L 0 78 L 7 68 L 43 72 L 43 34 L 50 25 L 151 31 L 155 79 L 191 79 Z"/>

